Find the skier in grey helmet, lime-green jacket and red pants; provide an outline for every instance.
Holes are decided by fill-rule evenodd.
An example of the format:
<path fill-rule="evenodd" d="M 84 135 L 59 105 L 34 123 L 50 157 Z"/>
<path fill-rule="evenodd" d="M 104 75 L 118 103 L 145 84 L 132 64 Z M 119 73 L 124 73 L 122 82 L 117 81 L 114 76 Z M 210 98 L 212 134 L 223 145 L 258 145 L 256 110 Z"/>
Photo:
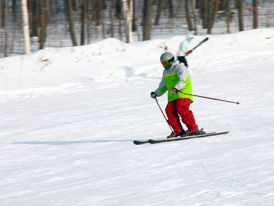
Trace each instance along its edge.
<path fill-rule="evenodd" d="M 190 103 L 193 102 L 192 86 L 188 69 L 175 60 L 175 57 L 170 52 L 165 52 L 160 56 L 160 62 L 164 67 L 162 80 L 158 89 L 151 92 L 151 98 L 160 97 L 168 91 L 168 104 L 166 105 L 166 115 L 169 118 L 168 123 L 173 128 L 174 132 L 167 138 L 199 135 L 199 129 L 195 123 L 195 118 L 192 111 L 189 110 Z M 182 93 L 178 93 L 182 92 Z M 180 122 L 186 125 L 188 130 L 184 130 Z"/>

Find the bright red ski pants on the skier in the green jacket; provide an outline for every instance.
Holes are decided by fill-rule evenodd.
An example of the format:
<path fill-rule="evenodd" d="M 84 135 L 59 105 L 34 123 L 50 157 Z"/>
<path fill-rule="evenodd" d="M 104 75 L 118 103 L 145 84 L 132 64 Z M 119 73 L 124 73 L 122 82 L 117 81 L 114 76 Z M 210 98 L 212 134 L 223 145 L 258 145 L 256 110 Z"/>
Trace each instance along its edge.
<path fill-rule="evenodd" d="M 195 118 L 192 111 L 189 110 L 190 100 L 187 98 L 179 98 L 166 105 L 166 115 L 169 118 L 168 122 L 173 130 L 182 128 L 179 116 L 182 118 L 182 122 L 186 124 L 188 129 L 198 127 L 195 124 Z"/>

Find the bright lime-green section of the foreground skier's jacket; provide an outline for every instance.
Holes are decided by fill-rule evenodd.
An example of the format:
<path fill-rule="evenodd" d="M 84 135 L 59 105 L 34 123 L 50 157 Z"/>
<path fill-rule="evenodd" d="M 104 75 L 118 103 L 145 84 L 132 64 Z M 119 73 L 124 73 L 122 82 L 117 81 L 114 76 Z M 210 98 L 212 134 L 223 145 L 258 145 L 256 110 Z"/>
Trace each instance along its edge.
<path fill-rule="evenodd" d="M 164 76 L 164 82 L 166 82 L 166 87 L 160 88 L 160 90 L 162 91 L 162 94 L 165 93 L 166 91 L 169 91 L 167 93 L 168 102 L 172 102 L 173 100 L 176 100 L 179 98 L 187 98 L 187 99 L 190 99 L 190 102 L 192 103 L 193 102 L 192 85 L 191 85 L 191 80 L 189 78 L 189 75 L 188 75 L 188 78 L 186 78 L 186 87 L 184 87 L 180 91 L 182 93 L 188 93 L 191 95 L 185 95 L 182 93 L 177 93 L 175 95 L 171 94 L 171 89 L 173 89 L 175 85 L 177 84 L 177 82 L 180 82 L 180 81 L 181 80 L 179 80 L 177 73 L 167 74 L 166 76 Z"/>

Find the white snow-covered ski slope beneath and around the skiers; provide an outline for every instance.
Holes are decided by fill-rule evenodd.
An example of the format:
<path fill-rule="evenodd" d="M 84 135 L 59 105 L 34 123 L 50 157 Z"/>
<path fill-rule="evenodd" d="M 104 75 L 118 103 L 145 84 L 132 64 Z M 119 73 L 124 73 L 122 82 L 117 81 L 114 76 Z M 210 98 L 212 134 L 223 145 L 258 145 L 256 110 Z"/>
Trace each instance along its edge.
<path fill-rule="evenodd" d="M 193 93 L 240 104 L 190 108 L 229 133 L 154 145 L 133 141 L 171 132 L 149 95 L 185 36 L 1 58 L 0 205 L 274 205 L 274 29 L 208 37 L 187 57 Z"/>

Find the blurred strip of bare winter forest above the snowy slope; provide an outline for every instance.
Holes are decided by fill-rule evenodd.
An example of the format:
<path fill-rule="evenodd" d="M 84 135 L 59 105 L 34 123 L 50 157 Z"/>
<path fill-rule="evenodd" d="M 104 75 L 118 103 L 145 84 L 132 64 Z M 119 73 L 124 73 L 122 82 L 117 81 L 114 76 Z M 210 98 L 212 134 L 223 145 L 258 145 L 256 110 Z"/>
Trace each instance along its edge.
<path fill-rule="evenodd" d="M 271 0 L 0 0 L 0 58 L 104 38 L 132 43 L 172 32 L 227 34 L 273 27 L 274 8 L 269 3 Z M 214 25 L 218 30 L 214 31 Z"/>

